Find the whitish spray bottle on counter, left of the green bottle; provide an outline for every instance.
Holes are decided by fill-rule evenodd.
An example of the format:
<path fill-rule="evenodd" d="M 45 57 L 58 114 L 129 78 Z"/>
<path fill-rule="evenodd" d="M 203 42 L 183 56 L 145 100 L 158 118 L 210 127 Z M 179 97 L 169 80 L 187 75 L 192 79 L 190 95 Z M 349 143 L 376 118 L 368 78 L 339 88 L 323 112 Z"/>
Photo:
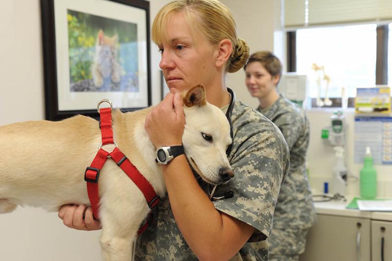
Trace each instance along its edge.
<path fill-rule="evenodd" d="M 342 146 L 336 146 L 335 156 L 336 156 L 336 166 L 334 167 L 334 177 L 332 180 L 332 193 L 339 193 L 342 196 L 345 195 L 347 187 L 347 168 L 344 164 L 344 148 Z"/>

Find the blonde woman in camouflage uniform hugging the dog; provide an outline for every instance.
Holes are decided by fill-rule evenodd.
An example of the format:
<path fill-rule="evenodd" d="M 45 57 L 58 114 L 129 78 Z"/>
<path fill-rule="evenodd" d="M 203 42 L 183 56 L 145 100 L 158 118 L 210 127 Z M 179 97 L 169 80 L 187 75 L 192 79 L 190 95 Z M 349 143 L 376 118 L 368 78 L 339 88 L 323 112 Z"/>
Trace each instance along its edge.
<path fill-rule="evenodd" d="M 201 83 L 207 100 L 226 111 L 231 95 L 224 74 L 245 65 L 249 48 L 237 37 L 230 11 L 217 0 L 173 1 L 158 12 L 151 31 L 171 93 L 149 114 L 145 127 L 155 147 L 178 145 L 184 115 L 174 94 Z M 230 119 L 228 159 L 235 176 L 216 194 L 232 191 L 233 197 L 212 202 L 184 155 L 163 165 L 168 197 L 138 237 L 136 260 L 268 260 L 267 248 L 257 252 L 247 242 L 265 242 L 270 234 L 280 185 L 288 174 L 288 147 L 274 124 L 239 100 Z M 98 229 L 90 209 L 82 219 L 84 210 L 64 206 L 59 216 L 69 227 Z"/>

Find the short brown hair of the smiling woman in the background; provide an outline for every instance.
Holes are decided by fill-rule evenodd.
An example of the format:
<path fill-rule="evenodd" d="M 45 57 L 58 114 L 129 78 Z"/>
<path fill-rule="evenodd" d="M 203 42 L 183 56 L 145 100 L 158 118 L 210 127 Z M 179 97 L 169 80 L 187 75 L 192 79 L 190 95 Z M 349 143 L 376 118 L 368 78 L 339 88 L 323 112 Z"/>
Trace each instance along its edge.
<path fill-rule="evenodd" d="M 282 76 L 282 63 L 279 58 L 270 51 L 258 51 L 252 53 L 252 55 L 249 56 L 248 62 L 244 66 L 244 70 L 246 70 L 246 66 L 252 62 L 261 63 L 271 76 L 278 75 L 279 78 Z"/>

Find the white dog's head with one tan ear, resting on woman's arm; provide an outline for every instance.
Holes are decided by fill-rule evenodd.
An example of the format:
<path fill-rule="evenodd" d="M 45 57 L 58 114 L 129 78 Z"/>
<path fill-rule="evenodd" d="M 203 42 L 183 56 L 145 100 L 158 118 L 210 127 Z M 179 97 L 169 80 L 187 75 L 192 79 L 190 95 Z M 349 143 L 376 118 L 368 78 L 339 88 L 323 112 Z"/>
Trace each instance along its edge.
<path fill-rule="evenodd" d="M 182 94 L 185 128 L 182 143 L 189 164 L 206 182 L 218 185 L 234 176 L 226 157 L 230 124 L 220 108 L 208 103 L 199 84 Z"/>

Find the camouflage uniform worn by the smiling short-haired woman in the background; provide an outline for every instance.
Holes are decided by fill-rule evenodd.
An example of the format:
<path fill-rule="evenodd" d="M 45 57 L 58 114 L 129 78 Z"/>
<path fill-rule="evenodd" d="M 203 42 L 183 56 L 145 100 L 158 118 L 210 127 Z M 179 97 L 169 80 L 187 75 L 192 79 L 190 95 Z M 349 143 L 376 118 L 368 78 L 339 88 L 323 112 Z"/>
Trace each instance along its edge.
<path fill-rule="evenodd" d="M 304 110 L 283 95 L 270 107 L 257 110 L 279 127 L 290 148 L 290 173 L 280 188 L 268 239 L 270 260 L 297 260 L 316 221 L 305 167 L 309 121 Z"/>

